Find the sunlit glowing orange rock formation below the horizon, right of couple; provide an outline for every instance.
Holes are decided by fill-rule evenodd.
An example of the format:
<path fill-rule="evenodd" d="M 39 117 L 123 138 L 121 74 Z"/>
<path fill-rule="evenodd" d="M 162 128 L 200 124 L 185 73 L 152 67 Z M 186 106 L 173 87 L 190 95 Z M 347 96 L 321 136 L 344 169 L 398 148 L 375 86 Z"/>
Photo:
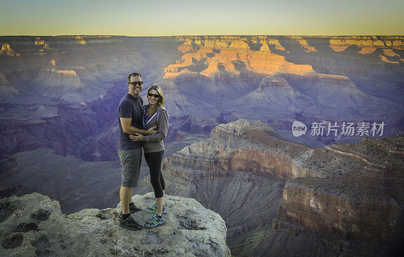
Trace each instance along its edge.
<path fill-rule="evenodd" d="M 304 42 L 304 39 L 300 40 Z M 273 75 L 276 73 L 311 74 L 311 66 L 295 65 L 286 61 L 284 56 L 273 53 L 268 44 L 279 42 L 271 39 L 228 38 L 223 37 L 221 44 L 211 43 L 211 39 L 186 40 L 178 49 L 184 52 L 180 61 L 164 70 L 165 79 L 173 79 L 184 69 L 198 72 L 216 81 L 252 76 L 254 74 Z M 190 46 L 189 46 L 190 45 Z M 260 47 L 258 47 L 261 45 Z M 306 42 L 307 45 L 307 42 Z M 306 46 L 310 51 L 313 47 Z"/>

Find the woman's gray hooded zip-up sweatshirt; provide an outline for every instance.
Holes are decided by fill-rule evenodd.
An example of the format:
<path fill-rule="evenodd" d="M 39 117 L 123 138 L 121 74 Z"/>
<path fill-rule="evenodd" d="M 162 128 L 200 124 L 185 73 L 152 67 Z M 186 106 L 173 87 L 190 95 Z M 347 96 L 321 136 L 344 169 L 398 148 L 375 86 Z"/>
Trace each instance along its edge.
<path fill-rule="evenodd" d="M 144 113 L 146 113 L 148 104 L 143 107 Z M 144 130 L 150 129 L 150 127 L 157 126 L 155 130 L 159 131 L 156 134 L 143 136 L 143 151 L 145 153 L 154 153 L 164 150 L 163 140 L 167 137 L 168 130 L 168 113 L 163 106 L 157 107 L 155 113 L 151 114 L 148 120 L 144 120 Z"/>

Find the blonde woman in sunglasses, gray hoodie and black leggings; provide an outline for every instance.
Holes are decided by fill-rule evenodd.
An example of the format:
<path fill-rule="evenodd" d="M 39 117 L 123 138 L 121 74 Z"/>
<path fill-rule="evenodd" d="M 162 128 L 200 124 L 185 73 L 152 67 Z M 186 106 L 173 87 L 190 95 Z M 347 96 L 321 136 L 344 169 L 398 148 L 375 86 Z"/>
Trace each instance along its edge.
<path fill-rule="evenodd" d="M 146 209 L 148 213 L 155 213 L 144 223 L 145 227 L 152 228 L 165 222 L 164 204 L 165 184 L 163 174 L 161 174 L 161 163 L 163 161 L 164 143 L 168 130 L 168 113 L 164 108 L 163 91 L 158 85 L 153 85 L 147 89 L 148 104 L 143 107 L 144 129 L 157 126 L 157 133 L 148 136 L 140 134 L 130 135 L 132 141 L 143 141 L 144 159 L 150 170 L 150 183 L 155 191 L 156 202 Z"/>

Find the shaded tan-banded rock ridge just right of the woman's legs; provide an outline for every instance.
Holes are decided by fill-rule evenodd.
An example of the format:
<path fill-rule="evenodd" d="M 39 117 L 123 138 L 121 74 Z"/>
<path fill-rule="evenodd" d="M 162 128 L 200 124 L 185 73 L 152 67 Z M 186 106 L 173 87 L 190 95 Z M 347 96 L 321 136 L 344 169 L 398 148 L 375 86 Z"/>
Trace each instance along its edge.
<path fill-rule="evenodd" d="M 255 127 L 259 129 L 255 130 Z M 291 156 L 283 154 L 293 147 L 293 143 L 276 137 L 279 137 L 276 130 L 260 121 L 241 119 L 220 124 L 214 127 L 208 140 L 194 143 L 166 158 L 163 168 L 186 179 L 227 177 L 229 172 L 247 170 L 282 179 L 308 175 L 308 170 L 301 169 L 300 165 L 291 162 Z M 279 152 L 278 144 L 288 146 Z"/>

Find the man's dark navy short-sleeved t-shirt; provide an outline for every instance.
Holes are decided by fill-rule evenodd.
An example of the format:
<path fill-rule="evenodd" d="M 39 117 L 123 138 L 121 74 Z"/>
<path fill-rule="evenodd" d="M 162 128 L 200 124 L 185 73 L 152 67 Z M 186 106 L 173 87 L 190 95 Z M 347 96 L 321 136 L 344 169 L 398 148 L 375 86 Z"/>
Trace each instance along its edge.
<path fill-rule="evenodd" d="M 137 129 L 143 130 L 143 99 L 140 96 L 135 98 L 131 94 L 127 93 L 121 99 L 118 106 L 118 123 L 120 132 L 118 150 L 132 150 L 141 148 L 141 141 L 134 142 L 129 138 L 129 134 L 123 133 L 120 118 L 132 118 L 132 122 L 130 124 Z"/>

